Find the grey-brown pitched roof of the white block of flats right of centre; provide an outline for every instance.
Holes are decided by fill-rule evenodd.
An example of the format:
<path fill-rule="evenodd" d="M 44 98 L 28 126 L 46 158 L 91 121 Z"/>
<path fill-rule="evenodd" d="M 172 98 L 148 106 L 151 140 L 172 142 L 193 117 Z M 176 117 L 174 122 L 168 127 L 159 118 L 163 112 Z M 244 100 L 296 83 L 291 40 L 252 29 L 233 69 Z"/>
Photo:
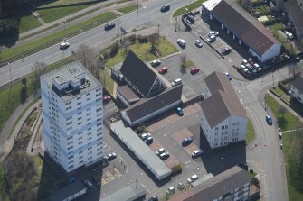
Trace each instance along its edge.
<path fill-rule="evenodd" d="M 212 96 L 201 104 L 204 116 L 213 128 L 222 123 L 231 115 L 247 118 L 246 112 L 233 90 L 231 82 L 222 73 L 213 72 L 205 78 L 206 86 L 209 87 Z"/>

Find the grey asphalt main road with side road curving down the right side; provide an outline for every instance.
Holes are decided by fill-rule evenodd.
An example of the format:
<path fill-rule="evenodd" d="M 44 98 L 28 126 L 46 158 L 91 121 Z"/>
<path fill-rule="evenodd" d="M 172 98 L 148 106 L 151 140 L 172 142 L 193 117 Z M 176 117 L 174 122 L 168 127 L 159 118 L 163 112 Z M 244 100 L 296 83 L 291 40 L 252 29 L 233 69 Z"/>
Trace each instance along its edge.
<path fill-rule="evenodd" d="M 184 38 L 187 42 L 185 50 L 179 49 L 184 52 L 189 59 L 192 59 L 194 63 L 203 70 L 204 74 L 208 75 L 213 70 L 218 71 L 232 71 L 232 63 L 235 62 L 232 58 L 218 59 L 211 50 L 203 48 L 197 50 L 194 46 L 194 40 L 197 36 L 194 32 L 175 32 L 175 22 L 173 19 L 171 22 L 169 14 L 172 12 L 161 14 L 159 7 L 167 4 L 171 5 L 171 11 L 187 4 L 186 1 L 159 1 L 151 0 L 147 2 L 147 5 L 139 10 L 138 25 L 148 24 L 150 26 L 157 27 L 160 24 L 160 33 L 166 36 L 166 39 L 175 43 L 177 38 Z M 177 19 L 179 22 L 180 19 Z M 137 12 L 122 16 L 117 20 L 117 24 L 126 30 L 136 27 Z M 52 46 L 48 49 L 40 51 L 25 59 L 15 61 L 10 65 L 0 69 L 0 86 L 5 83 L 9 83 L 11 78 L 22 78 L 24 75 L 30 73 L 32 66 L 35 62 L 40 61 L 46 64 L 51 64 L 63 57 L 71 55 L 71 51 L 77 50 L 80 44 L 86 44 L 90 47 L 100 47 L 106 45 L 113 37 L 118 34 L 118 29 L 114 29 L 110 32 L 105 32 L 103 26 L 97 27 L 89 32 L 84 32 L 68 41 L 71 43 L 71 47 L 64 52 L 59 50 L 58 45 Z M 190 44 L 193 41 L 193 44 Z M 274 82 L 281 78 L 285 78 L 288 75 L 288 69 L 280 69 L 273 74 L 264 76 L 255 81 L 244 81 L 241 76 L 234 74 L 238 80 L 232 80 L 232 85 L 235 87 L 244 105 L 246 105 L 247 112 L 251 117 L 251 121 L 256 129 L 256 140 L 258 144 L 255 148 L 248 147 L 247 161 L 260 172 L 261 175 L 261 192 L 263 200 L 288 200 L 286 176 L 284 169 L 284 160 L 282 151 L 279 150 L 279 140 L 276 134 L 276 129 L 272 126 L 268 126 L 265 123 L 264 116 L 265 110 L 262 106 L 262 101 L 259 102 L 258 94 L 262 88 L 273 85 Z M 265 146 L 266 145 L 266 146 Z M 130 171 L 136 171 L 136 169 L 130 169 Z M 134 173 L 136 175 L 136 172 Z M 132 178 L 133 179 L 133 178 Z M 131 178 L 128 178 L 130 181 Z M 153 187 L 154 184 L 147 181 L 147 186 Z M 103 191 L 104 190 L 104 191 Z M 105 192 L 105 189 L 102 189 Z"/>

